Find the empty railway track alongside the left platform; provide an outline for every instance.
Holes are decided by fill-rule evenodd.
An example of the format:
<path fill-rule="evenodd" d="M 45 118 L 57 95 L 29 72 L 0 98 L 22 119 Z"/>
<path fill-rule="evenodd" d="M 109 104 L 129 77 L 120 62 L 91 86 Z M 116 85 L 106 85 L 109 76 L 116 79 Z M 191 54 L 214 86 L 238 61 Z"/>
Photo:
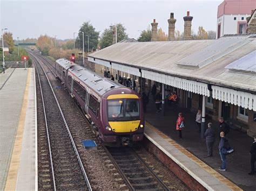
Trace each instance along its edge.
<path fill-rule="evenodd" d="M 91 190 L 75 142 L 41 61 L 33 54 L 43 103 L 39 122 L 39 189 Z M 42 172 L 42 174 L 41 174 Z"/>

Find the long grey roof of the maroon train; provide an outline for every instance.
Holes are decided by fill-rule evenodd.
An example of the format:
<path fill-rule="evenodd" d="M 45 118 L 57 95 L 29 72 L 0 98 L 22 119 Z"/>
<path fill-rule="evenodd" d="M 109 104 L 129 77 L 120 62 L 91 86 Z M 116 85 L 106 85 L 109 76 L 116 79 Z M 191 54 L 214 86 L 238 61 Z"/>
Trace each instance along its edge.
<path fill-rule="evenodd" d="M 74 74 L 77 79 L 80 80 L 80 82 L 86 84 L 86 86 L 89 86 L 101 96 L 111 89 L 123 87 L 119 83 L 110 81 L 106 77 L 99 76 L 95 72 L 92 72 L 83 66 L 79 66 L 69 60 L 58 59 L 56 62 L 60 66 L 69 69 L 69 71 Z"/>

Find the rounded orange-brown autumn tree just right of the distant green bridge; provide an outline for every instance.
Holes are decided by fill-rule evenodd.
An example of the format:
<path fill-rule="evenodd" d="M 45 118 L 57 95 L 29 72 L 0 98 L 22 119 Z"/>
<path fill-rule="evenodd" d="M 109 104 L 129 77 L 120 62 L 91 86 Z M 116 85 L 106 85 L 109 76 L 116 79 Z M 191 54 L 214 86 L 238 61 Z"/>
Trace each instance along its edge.
<path fill-rule="evenodd" d="M 49 51 L 53 47 L 53 40 L 46 34 L 41 35 L 37 40 L 36 46 L 43 55 L 49 55 Z"/>

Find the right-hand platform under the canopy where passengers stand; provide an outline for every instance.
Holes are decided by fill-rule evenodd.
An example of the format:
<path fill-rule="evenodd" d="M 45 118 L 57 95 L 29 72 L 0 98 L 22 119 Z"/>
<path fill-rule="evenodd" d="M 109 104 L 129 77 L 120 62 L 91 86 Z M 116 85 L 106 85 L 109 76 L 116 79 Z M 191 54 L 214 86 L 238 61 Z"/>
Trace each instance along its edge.
<path fill-rule="evenodd" d="M 231 130 L 227 135 L 235 152 L 228 155 L 227 171 L 219 171 L 221 164 L 218 153 L 219 138 L 216 133 L 213 157 L 207 157 L 205 139 L 200 139 L 194 114 L 183 108 L 166 106 L 165 116 L 156 113 L 155 104 L 150 101 L 145 114 L 145 136 L 161 151 L 194 177 L 201 185 L 213 190 L 256 190 L 255 175 L 248 175 L 250 166 L 250 147 L 253 142 L 246 133 Z M 178 138 L 176 120 L 178 112 L 183 112 L 186 128 L 183 139 Z M 211 122 L 218 131 L 218 122 Z"/>

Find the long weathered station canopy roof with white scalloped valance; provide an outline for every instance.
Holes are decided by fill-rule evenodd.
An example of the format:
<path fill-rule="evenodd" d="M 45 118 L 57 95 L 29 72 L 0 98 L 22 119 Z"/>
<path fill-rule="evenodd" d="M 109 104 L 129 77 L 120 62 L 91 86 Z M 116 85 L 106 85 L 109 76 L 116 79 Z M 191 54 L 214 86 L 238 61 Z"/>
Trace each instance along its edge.
<path fill-rule="evenodd" d="M 255 55 L 255 47 L 255 35 L 117 43 L 88 55 L 88 60 L 256 111 L 256 75 L 227 67 L 246 55 Z M 240 62 L 246 65 L 247 59 Z M 252 68 L 255 62 L 250 59 Z"/>

